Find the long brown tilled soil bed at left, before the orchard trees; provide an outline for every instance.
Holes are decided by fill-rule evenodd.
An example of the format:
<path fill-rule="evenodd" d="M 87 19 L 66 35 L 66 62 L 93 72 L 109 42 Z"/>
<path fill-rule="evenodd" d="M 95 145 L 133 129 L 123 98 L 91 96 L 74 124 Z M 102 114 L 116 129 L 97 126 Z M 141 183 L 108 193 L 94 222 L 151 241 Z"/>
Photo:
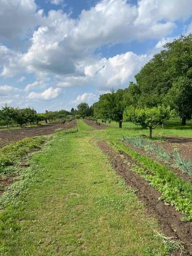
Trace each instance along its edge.
<path fill-rule="evenodd" d="M 22 140 L 29 137 L 41 136 L 52 134 L 55 131 L 67 130 L 74 128 L 77 125 L 77 121 L 73 120 L 70 123 L 53 123 L 47 125 L 41 125 L 37 127 L 21 128 L 21 129 L 10 129 L 0 131 L 0 148 L 10 144 L 13 141 Z"/>

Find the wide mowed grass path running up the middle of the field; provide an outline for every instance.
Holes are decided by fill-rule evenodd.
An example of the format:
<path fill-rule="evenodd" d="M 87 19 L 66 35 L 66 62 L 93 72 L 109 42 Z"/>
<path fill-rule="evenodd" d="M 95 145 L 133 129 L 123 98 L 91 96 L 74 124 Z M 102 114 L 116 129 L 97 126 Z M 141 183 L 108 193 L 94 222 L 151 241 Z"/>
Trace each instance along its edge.
<path fill-rule="evenodd" d="M 36 183 L 1 213 L 0 254 L 165 255 L 156 221 L 97 147 L 99 131 L 78 124 L 31 159 Z"/>

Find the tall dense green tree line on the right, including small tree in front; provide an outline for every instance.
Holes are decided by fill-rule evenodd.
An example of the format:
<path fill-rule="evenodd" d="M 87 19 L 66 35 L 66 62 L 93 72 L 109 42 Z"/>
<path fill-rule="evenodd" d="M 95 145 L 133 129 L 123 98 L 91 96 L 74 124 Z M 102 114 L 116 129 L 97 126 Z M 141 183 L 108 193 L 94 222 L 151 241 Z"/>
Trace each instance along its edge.
<path fill-rule="evenodd" d="M 192 35 L 166 43 L 135 75 L 135 81 L 124 90 L 100 95 L 93 104 L 94 116 L 114 119 L 120 128 L 123 121 L 149 127 L 150 137 L 170 114 L 186 125 L 192 115 Z"/>

